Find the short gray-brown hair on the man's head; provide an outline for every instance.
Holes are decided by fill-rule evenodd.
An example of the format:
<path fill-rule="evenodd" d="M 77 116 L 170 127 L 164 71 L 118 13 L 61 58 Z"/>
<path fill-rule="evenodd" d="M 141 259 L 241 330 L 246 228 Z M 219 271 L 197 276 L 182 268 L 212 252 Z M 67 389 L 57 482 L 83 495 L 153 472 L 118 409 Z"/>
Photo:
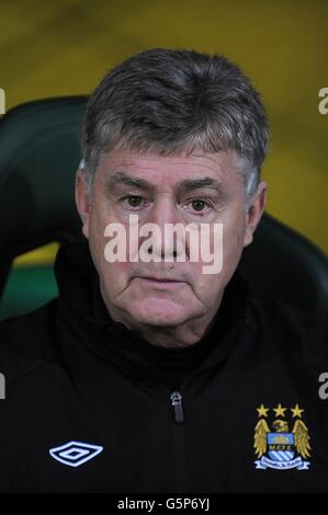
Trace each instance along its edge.
<path fill-rule="evenodd" d="M 100 159 L 114 148 L 159 156 L 233 150 L 248 203 L 268 140 L 261 96 L 237 65 L 220 55 L 155 48 L 116 66 L 89 98 L 82 164 L 90 191 Z"/>

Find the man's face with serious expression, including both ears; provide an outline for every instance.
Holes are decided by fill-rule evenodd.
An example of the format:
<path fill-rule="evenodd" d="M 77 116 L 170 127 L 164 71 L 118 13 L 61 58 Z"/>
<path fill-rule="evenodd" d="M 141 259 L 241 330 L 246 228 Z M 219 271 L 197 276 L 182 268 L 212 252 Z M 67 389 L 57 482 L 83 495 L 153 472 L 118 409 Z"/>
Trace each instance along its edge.
<path fill-rule="evenodd" d="M 90 205 L 87 184 L 78 176 L 77 204 L 83 233 L 89 238 L 101 291 L 114 320 L 132 328 L 173 328 L 213 318 L 264 207 L 265 185 L 261 183 L 255 203 L 246 210 L 244 182 L 236 164 L 233 152 L 159 157 L 113 150 L 98 167 Z M 157 261 L 135 262 L 128 254 L 126 261 L 106 261 L 105 227 L 113 222 L 125 227 L 128 249 L 129 215 L 138 216 L 138 228 L 151 222 L 161 231 L 162 237 L 152 239 L 148 250 Z M 202 255 L 191 261 L 188 238 L 178 241 L 178 237 L 173 245 L 166 247 L 168 224 L 206 225 L 212 250 L 215 225 L 222 224 L 222 271 L 205 274 L 203 266 L 208 263 Z M 148 238 L 139 236 L 135 249 Z M 181 243 L 185 259 L 179 262 Z"/>

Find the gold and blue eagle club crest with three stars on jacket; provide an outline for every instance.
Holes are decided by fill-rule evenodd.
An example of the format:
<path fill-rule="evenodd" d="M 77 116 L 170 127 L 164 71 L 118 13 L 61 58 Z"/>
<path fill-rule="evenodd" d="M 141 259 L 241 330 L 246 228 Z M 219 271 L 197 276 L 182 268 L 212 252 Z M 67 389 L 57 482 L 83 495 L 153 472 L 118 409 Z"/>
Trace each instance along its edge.
<path fill-rule="evenodd" d="M 310 465 L 306 461 L 310 457 L 310 445 L 308 428 L 303 421 L 304 410 L 298 404 L 291 409 L 279 404 L 272 410 L 261 404 L 257 411 L 259 420 L 255 428 L 253 447 L 260 459 L 255 461 L 256 468 L 307 470 Z M 274 415 L 270 417 L 268 413 L 273 412 Z M 290 427 L 293 427 L 292 431 Z"/>

